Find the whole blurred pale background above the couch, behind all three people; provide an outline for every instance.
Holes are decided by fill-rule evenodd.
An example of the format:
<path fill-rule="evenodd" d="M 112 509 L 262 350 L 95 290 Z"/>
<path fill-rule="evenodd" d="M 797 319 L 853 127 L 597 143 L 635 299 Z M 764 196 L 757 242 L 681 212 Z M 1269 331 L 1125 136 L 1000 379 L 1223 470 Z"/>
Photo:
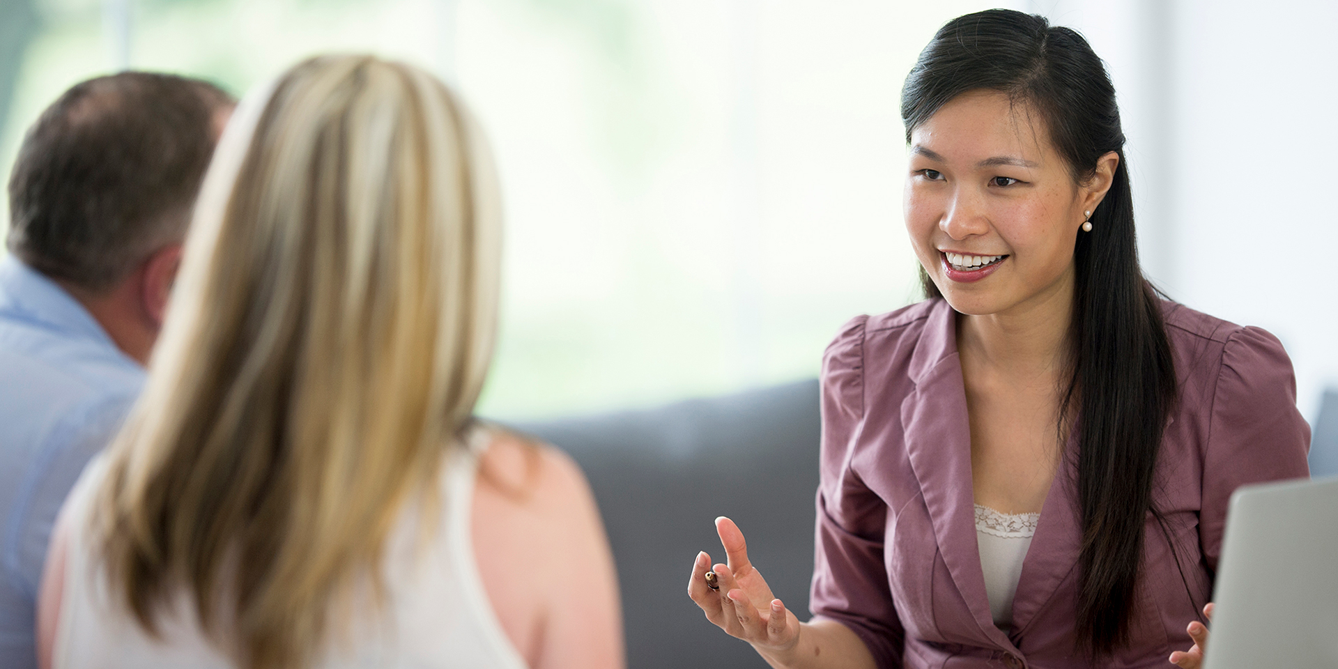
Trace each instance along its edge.
<path fill-rule="evenodd" d="M 482 412 L 602 412 L 816 375 L 919 297 L 902 80 L 970 0 L 0 0 L 0 177 L 68 86 L 120 68 L 237 95 L 321 51 L 439 72 L 498 154 L 507 256 Z M 1338 4 L 1018 0 L 1084 32 L 1129 136 L 1145 268 L 1338 381 Z M 3 206 L 3 201 L 0 201 Z M 1338 399 L 1338 397 L 1335 397 Z"/>

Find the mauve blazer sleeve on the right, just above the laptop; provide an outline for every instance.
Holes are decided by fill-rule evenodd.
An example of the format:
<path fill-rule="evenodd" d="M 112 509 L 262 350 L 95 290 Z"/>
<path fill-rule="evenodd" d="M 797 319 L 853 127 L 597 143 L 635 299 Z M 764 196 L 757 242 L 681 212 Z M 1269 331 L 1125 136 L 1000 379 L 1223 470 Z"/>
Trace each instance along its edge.
<path fill-rule="evenodd" d="M 1227 339 L 1206 448 L 1199 541 L 1216 570 L 1231 494 L 1247 483 L 1310 475 L 1310 425 L 1297 411 L 1291 360 L 1260 328 Z"/>

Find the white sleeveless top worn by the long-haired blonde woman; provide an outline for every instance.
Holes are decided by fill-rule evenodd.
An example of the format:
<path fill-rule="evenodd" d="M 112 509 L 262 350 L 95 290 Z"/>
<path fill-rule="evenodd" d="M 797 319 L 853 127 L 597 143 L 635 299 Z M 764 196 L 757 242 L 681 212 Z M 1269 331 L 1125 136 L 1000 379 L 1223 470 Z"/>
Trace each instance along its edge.
<path fill-rule="evenodd" d="M 110 599 L 106 571 L 90 559 L 87 522 L 106 468 L 104 458 L 94 459 L 71 492 L 72 522 L 67 526 L 70 542 L 54 666 L 234 666 L 206 640 L 185 593 L 175 614 L 165 611 L 158 618 L 162 641 L 151 638 L 128 609 Z M 439 514 L 438 531 L 420 537 L 415 526 L 417 514 L 412 508 L 401 514 L 385 547 L 384 609 L 377 610 L 371 602 L 359 606 L 345 628 L 349 633 L 334 638 L 332 632 L 330 641 L 317 652 L 313 669 L 526 669 L 483 590 L 470 541 L 478 456 L 452 455 L 442 470 L 446 512 Z"/>

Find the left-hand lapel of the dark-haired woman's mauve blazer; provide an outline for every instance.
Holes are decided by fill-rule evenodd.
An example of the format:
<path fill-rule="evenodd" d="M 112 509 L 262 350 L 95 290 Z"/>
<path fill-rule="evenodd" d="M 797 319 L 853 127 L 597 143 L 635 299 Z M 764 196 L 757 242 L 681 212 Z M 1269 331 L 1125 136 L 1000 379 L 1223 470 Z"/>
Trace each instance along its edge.
<path fill-rule="evenodd" d="M 994 626 L 975 542 L 971 488 L 971 431 L 957 356 L 957 318 L 947 302 L 929 316 L 911 356 L 915 389 L 902 401 L 902 425 L 911 470 L 934 523 L 939 553 L 981 634 L 1008 644 Z"/>

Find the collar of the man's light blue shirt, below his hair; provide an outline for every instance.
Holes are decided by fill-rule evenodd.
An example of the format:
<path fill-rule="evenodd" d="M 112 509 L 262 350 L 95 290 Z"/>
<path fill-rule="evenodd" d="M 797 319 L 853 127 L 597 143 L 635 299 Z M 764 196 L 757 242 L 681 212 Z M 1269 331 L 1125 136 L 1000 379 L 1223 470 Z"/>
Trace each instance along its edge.
<path fill-rule="evenodd" d="M 116 348 L 74 296 L 12 254 L 0 260 L 0 314 Z"/>

